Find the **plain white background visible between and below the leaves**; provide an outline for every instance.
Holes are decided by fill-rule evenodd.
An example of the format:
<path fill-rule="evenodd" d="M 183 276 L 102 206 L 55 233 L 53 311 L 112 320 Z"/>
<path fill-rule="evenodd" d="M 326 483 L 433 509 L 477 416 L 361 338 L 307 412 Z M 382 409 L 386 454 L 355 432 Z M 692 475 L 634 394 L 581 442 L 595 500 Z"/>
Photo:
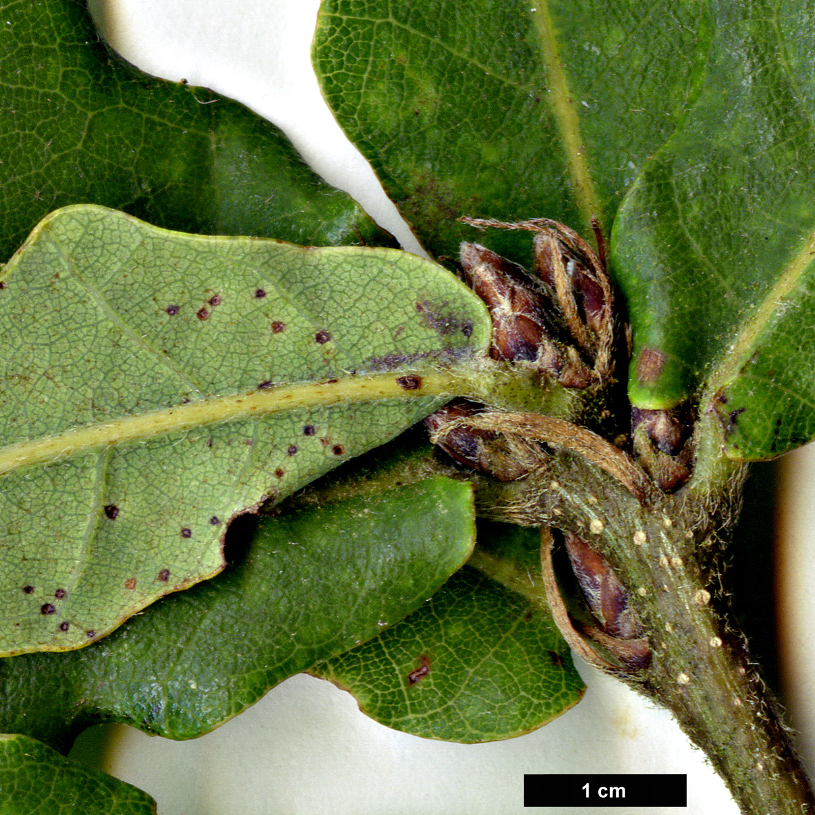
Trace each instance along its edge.
<path fill-rule="evenodd" d="M 309 49 L 319 0 L 92 0 L 113 44 L 140 68 L 186 78 L 248 104 L 280 126 L 328 182 L 350 192 L 408 249 L 418 245 L 319 96 Z M 541 213 L 545 215 L 545 213 Z M 801 662 L 815 608 L 808 530 L 815 456 L 782 468 L 782 653 L 791 672 L 789 706 L 815 754 L 813 669 Z M 796 519 L 797 524 L 790 519 Z M 769 545 L 769 541 L 768 541 Z M 772 610 L 768 610 L 772 613 Z M 796 661 L 797 660 L 797 661 Z M 162 815 L 343 815 L 430 813 L 514 815 L 523 809 L 523 773 L 667 773 L 689 776 L 685 812 L 734 815 L 738 808 L 702 754 L 666 712 L 615 681 L 579 666 L 584 700 L 551 725 L 484 745 L 400 734 L 363 716 L 328 683 L 296 676 L 236 720 L 192 742 L 149 738 L 133 729 L 92 729 L 76 754 L 150 792 Z M 798 671 L 796 675 L 794 672 Z M 586 810 L 581 810 L 586 811 Z M 626 808 L 642 815 L 676 809 Z"/>

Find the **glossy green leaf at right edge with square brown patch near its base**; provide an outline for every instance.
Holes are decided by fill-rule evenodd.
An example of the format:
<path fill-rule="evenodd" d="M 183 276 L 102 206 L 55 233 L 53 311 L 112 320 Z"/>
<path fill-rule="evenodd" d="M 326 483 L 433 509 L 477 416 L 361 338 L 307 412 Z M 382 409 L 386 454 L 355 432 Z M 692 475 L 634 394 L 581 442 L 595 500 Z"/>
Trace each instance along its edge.
<path fill-rule="evenodd" d="M 764 457 L 815 433 L 815 33 L 796 2 L 711 9 L 700 94 L 620 210 L 615 266 L 637 317 L 637 403 L 671 405 L 707 379 L 725 416 L 738 411 L 731 452 Z"/>

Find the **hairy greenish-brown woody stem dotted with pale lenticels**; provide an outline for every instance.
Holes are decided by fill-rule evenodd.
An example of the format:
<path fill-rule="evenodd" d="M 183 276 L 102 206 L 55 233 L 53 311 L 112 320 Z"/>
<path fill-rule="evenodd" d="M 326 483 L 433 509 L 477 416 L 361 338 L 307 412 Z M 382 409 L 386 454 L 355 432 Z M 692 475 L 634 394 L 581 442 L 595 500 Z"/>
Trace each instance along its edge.
<path fill-rule="evenodd" d="M 651 660 L 621 669 L 593 659 L 584 642 L 589 661 L 671 710 L 745 813 L 812 813 L 806 775 L 718 593 L 742 475 L 731 468 L 716 501 L 710 491 L 685 489 L 644 506 L 608 472 L 562 450 L 524 481 L 482 483 L 479 503 L 496 519 L 574 532 L 606 558 L 637 611 Z M 579 637 L 571 624 L 562 633 Z"/>

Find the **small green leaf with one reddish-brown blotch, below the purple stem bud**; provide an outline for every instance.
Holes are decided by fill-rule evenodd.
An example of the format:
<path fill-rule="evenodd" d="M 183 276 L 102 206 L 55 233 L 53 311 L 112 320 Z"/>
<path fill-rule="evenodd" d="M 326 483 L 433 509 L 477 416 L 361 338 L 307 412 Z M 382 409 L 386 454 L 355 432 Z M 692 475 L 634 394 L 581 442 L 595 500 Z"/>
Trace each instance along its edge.
<path fill-rule="evenodd" d="M 578 703 L 584 685 L 542 593 L 540 531 L 479 522 L 478 538 L 487 555 L 471 562 L 504 576 L 522 570 L 540 595 L 468 566 L 403 622 L 311 673 L 383 725 L 447 741 L 512 738 Z"/>

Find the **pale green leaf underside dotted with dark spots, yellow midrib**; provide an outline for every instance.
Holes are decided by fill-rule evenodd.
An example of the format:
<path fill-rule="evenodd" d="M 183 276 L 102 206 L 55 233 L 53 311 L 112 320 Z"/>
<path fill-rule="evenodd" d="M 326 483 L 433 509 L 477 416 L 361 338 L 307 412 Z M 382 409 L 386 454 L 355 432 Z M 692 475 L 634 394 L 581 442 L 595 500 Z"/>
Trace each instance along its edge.
<path fill-rule="evenodd" d="M 214 575 L 231 518 L 419 421 L 439 366 L 489 342 L 482 302 L 415 255 L 99 207 L 46 218 L 0 284 L 4 654 L 86 645 Z"/>

